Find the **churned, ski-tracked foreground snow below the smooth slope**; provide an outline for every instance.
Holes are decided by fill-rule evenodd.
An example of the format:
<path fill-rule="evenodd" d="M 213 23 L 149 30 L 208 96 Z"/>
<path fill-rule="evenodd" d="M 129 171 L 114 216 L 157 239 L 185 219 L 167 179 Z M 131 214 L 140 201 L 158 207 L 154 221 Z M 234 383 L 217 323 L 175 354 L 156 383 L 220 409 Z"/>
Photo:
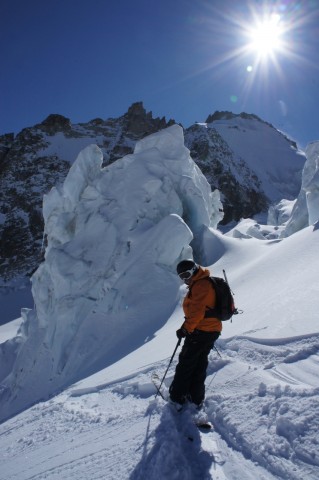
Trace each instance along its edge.
<path fill-rule="evenodd" d="M 75 385 L 2 424 L 0 478 L 317 480 L 319 335 L 217 343 L 206 382 L 212 431 L 155 399 L 148 366 Z"/>

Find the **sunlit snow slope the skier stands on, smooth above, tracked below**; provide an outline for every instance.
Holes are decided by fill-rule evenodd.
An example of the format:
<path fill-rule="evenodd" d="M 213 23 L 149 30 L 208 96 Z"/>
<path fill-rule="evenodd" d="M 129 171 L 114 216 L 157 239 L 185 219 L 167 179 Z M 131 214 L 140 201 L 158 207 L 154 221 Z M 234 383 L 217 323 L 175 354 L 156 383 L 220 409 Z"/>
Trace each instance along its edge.
<path fill-rule="evenodd" d="M 317 480 L 318 232 L 280 242 L 216 234 L 211 271 L 226 269 L 244 313 L 210 356 L 213 431 L 155 400 L 151 374 L 164 374 L 176 345 L 178 304 L 140 348 L 2 424 L 0 478 Z"/>

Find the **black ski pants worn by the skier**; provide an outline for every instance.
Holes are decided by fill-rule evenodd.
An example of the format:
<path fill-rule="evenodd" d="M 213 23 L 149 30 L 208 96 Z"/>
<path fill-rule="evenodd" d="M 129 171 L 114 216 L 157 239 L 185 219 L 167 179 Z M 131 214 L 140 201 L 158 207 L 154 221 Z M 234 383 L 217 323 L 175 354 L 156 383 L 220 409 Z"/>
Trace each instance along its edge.
<path fill-rule="evenodd" d="M 219 332 L 194 330 L 186 336 L 169 388 L 170 397 L 174 402 L 184 403 L 187 399 L 196 405 L 203 402 L 208 354 L 219 335 Z"/>

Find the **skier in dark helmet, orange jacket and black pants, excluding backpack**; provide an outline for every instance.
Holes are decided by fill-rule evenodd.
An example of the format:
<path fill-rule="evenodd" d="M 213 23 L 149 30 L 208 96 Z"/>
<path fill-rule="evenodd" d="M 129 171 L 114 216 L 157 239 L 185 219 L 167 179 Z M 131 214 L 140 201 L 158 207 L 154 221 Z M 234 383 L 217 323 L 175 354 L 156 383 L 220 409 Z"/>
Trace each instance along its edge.
<path fill-rule="evenodd" d="M 188 293 L 183 301 L 185 321 L 176 331 L 177 337 L 185 341 L 169 388 L 169 400 L 178 410 L 186 401 L 200 408 L 205 398 L 208 354 L 220 335 L 222 322 L 217 318 L 205 318 L 205 311 L 213 308 L 216 300 L 208 278 L 209 270 L 193 260 L 181 261 L 176 270 L 188 285 Z"/>

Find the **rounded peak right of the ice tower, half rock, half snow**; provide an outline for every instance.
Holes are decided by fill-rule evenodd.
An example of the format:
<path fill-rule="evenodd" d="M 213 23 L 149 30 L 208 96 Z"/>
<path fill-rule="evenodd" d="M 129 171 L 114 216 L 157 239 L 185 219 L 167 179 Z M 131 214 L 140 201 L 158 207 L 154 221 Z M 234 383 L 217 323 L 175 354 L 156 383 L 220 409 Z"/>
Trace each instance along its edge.
<path fill-rule="evenodd" d="M 304 155 L 256 115 L 215 112 L 185 132 L 185 144 L 212 188 L 222 193 L 224 223 L 295 199 Z"/>

